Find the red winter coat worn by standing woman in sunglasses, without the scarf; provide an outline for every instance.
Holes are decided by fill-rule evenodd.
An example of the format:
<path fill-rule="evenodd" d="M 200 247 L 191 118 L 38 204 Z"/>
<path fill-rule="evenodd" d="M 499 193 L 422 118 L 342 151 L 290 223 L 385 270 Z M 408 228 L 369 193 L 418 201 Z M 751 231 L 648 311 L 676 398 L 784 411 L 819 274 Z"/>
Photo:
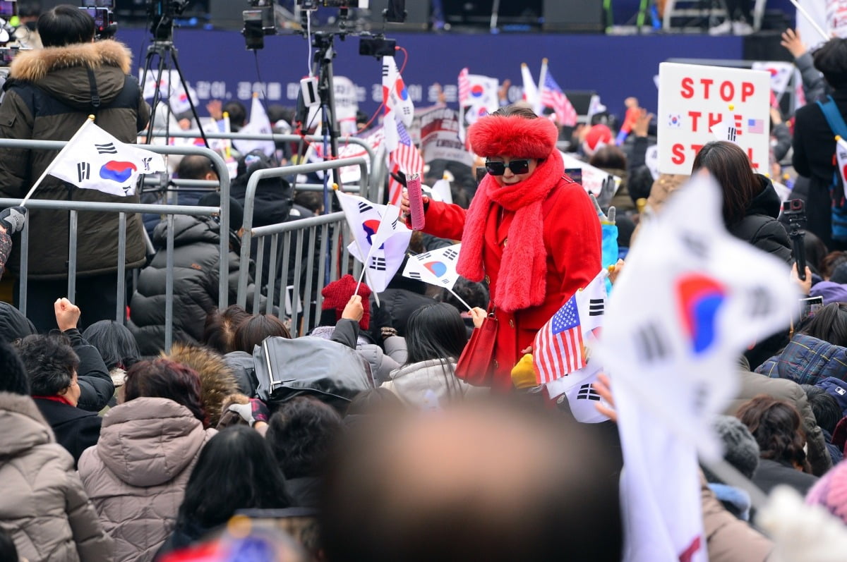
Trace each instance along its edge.
<path fill-rule="evenodd" d="M 521 350 L 533 344 L 535 334 L 551 319 L 577 289 L 582 289 L 601 269 L 600 221 L 583 187 L 570 179 L 560 179 L 544 201 L 544 245 L 547 251 L 545 300 L 512 313 L 497 307 L 497 277 L 503 247 L 507 245 L 514 212 L 491 203 L 485 223 L 483 267 L 497 318 L 495 344 L 495 388 L 512 387 L 512 366 Z M 439 201 L 429 201 L 424 231 L 440 238 L 460 240 L 465 209 Z M 529 268 L 527 274 L 530 274 Z"/>

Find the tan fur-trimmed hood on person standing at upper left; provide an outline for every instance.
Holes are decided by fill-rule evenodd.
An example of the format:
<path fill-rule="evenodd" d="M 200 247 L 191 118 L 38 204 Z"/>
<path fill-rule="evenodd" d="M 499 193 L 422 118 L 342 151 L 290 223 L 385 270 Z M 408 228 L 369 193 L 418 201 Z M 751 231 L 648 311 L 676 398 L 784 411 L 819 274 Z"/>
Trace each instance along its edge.
<path fill-rule="evenodd" d="M 9 69 L 9 80 L 31 82 L 51 96 L 77 107 L 91 107 L 87 69 L 94 71 L 97 96 L 108 104 L 124 88 L 132 54 L 118 41 L 77 43 L 22 51 Z"/>

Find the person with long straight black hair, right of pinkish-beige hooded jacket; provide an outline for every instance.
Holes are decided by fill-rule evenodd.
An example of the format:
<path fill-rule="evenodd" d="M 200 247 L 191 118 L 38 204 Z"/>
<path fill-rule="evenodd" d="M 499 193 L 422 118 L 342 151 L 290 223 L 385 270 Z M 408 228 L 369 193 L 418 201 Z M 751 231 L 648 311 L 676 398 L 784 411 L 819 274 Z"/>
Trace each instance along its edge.
<path fill-rule="evenodd" d="M 246 426 L 227 427 L 202 449 L 191 471 L 173 534 L 159 549 L 184 548 L 224 525 L 237 510 L 291 507 L 270 445 Z"/>

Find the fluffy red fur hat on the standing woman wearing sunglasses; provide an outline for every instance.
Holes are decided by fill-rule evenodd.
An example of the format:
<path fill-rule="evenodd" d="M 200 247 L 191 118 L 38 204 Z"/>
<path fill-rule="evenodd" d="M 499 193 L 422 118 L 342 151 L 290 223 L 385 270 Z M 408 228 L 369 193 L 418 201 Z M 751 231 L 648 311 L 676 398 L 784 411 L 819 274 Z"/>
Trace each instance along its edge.
<path fill-rule="evenodd" d="M 486 115 L 468 129 L 473 152 L 482 157 L 508 155 L 543 159 L 556 149 L 559 129 L 548 119 Z"/>

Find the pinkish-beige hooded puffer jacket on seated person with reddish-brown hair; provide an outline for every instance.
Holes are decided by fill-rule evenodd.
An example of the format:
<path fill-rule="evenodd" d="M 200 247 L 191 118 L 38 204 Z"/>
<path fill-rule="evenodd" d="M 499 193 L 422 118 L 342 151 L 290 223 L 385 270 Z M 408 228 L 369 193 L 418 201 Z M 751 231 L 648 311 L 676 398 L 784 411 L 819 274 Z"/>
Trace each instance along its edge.
<path fill-rule="evenodd" d="M 174 529 L 191 469 L 214 433 L 164 398 L 137 398 L 103 416 L 100 440 L 82 454 L 79 470 L 114 539 L 115 562 L 152 560 Z"/>

